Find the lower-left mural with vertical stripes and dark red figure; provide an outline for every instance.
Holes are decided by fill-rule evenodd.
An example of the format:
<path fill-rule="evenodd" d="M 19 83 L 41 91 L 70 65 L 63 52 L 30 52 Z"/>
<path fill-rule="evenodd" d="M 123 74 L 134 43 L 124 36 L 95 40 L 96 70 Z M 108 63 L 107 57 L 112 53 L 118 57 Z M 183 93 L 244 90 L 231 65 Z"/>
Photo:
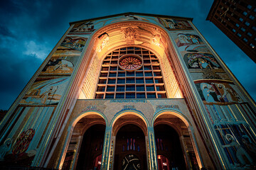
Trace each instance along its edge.
<path fill-rule="evenodd" d="M 5 164 L 17 166 L 30 165 L 54 111 L 55 107 L 18 107 L 16 113 L 21 120 L 13 126 L 21 132 L 7 132 L 4 144 L 0 146 L 0 164 L 5 161 Z"/>

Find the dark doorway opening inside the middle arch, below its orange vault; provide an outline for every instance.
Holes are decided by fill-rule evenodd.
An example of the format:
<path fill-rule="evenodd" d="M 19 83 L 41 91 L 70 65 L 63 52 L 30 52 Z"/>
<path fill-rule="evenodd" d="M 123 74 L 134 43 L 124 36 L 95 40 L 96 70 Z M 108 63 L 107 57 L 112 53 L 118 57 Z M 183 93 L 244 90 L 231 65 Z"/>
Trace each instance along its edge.
<path fill-rule="evenodd" d="M 114 169 L 146 169 L 145 135 L 137 125 L 122 126 L 117 132 Z"/>

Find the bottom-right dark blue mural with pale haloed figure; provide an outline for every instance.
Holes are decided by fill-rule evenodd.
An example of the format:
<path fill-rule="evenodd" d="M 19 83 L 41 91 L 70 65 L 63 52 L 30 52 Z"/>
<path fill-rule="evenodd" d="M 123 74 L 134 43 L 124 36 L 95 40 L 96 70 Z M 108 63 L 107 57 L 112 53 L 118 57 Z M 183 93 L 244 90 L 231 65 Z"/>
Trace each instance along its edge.
<path fill-rule="evenodd" d="M 230 164 L 233 166 L 254 164 L 252 158 L 255 153 L 250 152 L 249 148 L 255 151 L 255 138 L 250 135 L 252 133 L 247 123 L 236 120 L 222 121 L 216 122 L 214 128 Z M 250 142 L 245 142 L 245 139 Z"/>

